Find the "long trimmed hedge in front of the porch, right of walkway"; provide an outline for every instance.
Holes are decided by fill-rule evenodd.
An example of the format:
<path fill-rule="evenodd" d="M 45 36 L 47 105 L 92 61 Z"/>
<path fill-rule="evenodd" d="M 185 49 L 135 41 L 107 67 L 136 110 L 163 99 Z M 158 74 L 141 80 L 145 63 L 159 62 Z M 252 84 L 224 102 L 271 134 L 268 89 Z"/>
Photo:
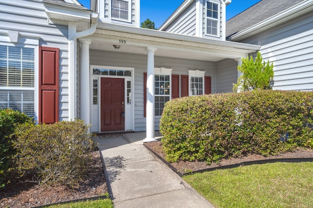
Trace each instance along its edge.
<path fill-rule="evenodd" d="M 210 163 L 305 146 L 312 124 L 313 92 L 255 90 L 171 100 L 160 132 L 168 161 Z"/>

